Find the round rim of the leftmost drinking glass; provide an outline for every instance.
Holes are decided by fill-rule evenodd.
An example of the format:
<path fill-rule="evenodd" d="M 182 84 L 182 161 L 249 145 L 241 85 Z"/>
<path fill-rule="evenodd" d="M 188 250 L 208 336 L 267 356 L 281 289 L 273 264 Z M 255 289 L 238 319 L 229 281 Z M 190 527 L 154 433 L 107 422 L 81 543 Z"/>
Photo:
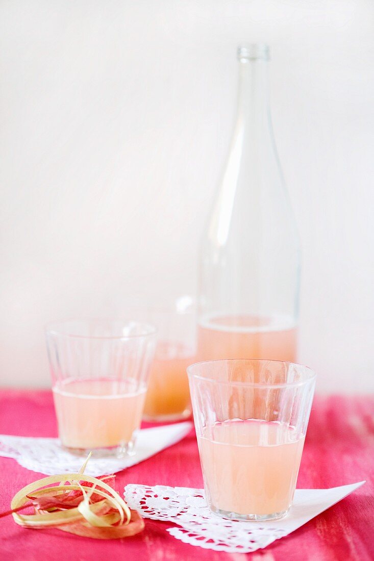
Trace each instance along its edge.
<path fill-rule="evenodd" d="M 133 335 L 83 335 L 79 333 L 69 333 L 64 332 L 61 330 L 63 326 L 67 326 L 72 323 L 82 323 L 85 325 L 89 324 L 100 324 L 100 323 L 108 323 L 114 324 L 119 323 L 122 324 L 123 327 L 129 326 L 130 324 L 141 326 L 145 329 L 144 333 L 136 333 Z M 60 328 L 60 329 L 59 329 Z M 147 321 L 138 321 L 138 320 L 127 320 L 123 321 L 120 319 L 114 318 L 72 318 L 68 320 L 61 320 L 61 321 L 49 321 L 47 324 L 44 325 L 44 332 L 46 335 L 54 335 L 58 337 L 66 337 L 69 339 L 97 339 L 102 341 L 125 341 L 127 339 L 136 339 L 136 338 L 145 338 L 150 337 L 152 335 L 156 335 L 157 328 L 154 325 L 148 323 Z"/>

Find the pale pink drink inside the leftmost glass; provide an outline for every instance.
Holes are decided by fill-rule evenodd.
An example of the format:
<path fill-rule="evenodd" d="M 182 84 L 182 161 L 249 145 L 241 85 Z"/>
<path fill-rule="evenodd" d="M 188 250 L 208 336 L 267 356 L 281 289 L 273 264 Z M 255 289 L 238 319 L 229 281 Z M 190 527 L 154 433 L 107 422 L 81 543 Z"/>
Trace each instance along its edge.
<path fill-rule="evenodd" d="M 66 379 L 53 388 L 58 434 L 69 448 L 126 445 L 139 428 L 145 398 L 131 380 Z"/>

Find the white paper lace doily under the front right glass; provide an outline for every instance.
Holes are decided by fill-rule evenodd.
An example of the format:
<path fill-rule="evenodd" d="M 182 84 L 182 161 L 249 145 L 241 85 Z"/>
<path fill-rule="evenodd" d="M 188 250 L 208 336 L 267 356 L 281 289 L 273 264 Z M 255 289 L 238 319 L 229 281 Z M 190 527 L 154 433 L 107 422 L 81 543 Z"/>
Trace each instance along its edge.
<path fill-rule="evenodd" d="M 126 485 L 125 500 L 144 518 L 174 522 L 167 532 L 186 544 L 227 553 L 250 553 L 286 536 L 343 499 L 363 482 L 333 489 L 300 489 L 289 515 L 270 522 L 239 522 L 216 516 L 202 489 Z"/>

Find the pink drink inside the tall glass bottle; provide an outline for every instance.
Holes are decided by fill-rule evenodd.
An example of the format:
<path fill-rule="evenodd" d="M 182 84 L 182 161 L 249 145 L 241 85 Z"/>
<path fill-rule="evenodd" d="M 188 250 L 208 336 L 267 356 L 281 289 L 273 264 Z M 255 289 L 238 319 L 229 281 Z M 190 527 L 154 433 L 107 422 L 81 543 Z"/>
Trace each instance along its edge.
<path fill-rule="evenodd" d="M 199 360 L 266 358 L 295 362 L 297 329 L 289 318 L 220 316 L 200 322 Z"/>

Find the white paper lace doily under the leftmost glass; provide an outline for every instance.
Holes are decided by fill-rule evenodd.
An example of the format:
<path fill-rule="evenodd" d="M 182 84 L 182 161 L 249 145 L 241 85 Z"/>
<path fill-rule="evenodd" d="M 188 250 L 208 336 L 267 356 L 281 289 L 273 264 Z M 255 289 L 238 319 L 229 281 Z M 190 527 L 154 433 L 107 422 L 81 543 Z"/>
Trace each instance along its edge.
<path fill-rule="evenodd" d="M 191 430 L 189 421 L 139 431 L 135 454 L 127 458 L 90 458 L 85 469 L 87 475 L 98 476 L 116 473 L 134 466 L 157 454 L 171 444 L 179 442 Z M 61 448 L 57 438 L 0 435 L 0 456 L 14 458 L 22 467 L 45 475 L 79 471 L 85 457 L 76 456 Z"/>

